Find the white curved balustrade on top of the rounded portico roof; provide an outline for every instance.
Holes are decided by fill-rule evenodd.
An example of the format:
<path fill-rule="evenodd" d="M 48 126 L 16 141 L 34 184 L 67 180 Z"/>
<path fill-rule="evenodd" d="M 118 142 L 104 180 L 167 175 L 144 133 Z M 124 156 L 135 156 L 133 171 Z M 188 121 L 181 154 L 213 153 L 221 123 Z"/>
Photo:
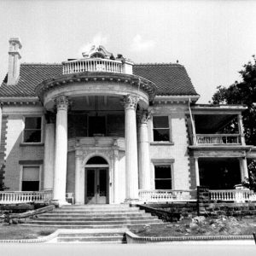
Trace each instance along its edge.
<path fill-rule="evenodd" d="M 82 72 L 123 73 L 121 61 L 105 59 L 82 59 L 62 62 L 63 74 Z"/>

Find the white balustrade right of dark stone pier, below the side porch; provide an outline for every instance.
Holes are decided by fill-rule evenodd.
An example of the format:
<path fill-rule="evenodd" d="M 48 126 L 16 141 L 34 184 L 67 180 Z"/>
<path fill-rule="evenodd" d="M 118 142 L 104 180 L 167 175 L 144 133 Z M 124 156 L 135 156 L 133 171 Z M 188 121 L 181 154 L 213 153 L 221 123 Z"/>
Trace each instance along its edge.
<path fill-rule="evenodd" d="M 211 201 L 256 201 L 256 193 L 248 189 L 210 190 Z"/>

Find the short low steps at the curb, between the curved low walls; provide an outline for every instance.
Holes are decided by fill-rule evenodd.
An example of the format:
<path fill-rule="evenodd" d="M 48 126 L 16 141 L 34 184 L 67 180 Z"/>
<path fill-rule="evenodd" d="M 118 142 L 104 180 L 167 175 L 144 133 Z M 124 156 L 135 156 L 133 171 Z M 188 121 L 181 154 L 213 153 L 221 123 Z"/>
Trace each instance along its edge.
<path fill-rule="evenodd" d="M 58 237 L 58 242 L 118 242 L 118 243 L 125 243 L 124 236 L 80 236 L 80 237 Z"/>

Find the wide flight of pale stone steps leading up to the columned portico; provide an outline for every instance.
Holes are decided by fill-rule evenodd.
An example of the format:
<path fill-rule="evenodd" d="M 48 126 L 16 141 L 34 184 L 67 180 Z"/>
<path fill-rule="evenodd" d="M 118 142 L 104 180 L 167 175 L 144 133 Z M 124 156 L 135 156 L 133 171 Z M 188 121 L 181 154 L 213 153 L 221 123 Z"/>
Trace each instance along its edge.
<path fill-rule="evenodd" d="M 55 227 L 58 229 L 120 229 L 143 228 L 145 225 L 162 225 L 162 221 L 150 213 L 129 205 L 63 206 L 51 212 L 30 218 L 29 226 Z"/>

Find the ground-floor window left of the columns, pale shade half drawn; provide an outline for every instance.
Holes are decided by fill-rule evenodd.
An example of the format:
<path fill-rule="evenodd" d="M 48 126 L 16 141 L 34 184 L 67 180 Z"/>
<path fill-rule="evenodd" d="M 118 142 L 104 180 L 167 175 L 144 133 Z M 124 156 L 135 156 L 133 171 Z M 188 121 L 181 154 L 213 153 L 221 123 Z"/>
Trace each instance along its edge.
<path fill-rule="evenodd" d="M 39 166 L 23 166 L 22 167 L 22 191 L 39 191 Z"/>

